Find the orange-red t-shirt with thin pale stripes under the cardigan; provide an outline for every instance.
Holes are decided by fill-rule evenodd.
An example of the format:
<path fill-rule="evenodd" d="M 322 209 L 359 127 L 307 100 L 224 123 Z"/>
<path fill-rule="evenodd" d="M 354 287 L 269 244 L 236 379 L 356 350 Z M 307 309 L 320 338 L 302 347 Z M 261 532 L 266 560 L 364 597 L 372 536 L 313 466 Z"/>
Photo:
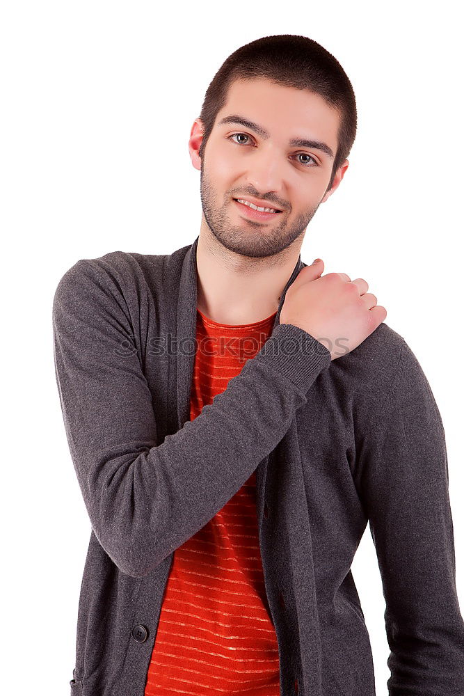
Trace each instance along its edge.
<path fill-rule="evenodd" d="M 259 351 L 274 319 L 230 326 L 197 310 L 191 420 Z M 279 679 L 259 552 L 255 470 L 174 553 L 144 696 L 279 696 Z"/>

